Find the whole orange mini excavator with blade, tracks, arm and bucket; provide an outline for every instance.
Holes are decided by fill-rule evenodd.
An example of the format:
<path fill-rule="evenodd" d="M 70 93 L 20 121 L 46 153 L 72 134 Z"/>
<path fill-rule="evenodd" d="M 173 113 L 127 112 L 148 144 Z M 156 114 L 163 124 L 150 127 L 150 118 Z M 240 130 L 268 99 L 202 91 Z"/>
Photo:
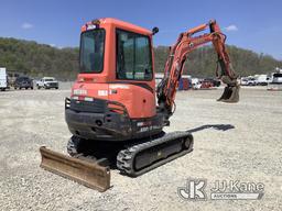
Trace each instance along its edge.
<path fill-rule="evenodd" d="M 207 29 L 208 33 L 196 34 Z M 119 146 L 115 166 L 129 176 L 139 176 L 189 153 L 191 133 L 166 134 L 163 127 L 170 125 L 175 109 L 186 57 L 208 42 L 218 56 L 217 77 L 227 85 L 218 101 L 239 101 L 239 85 L 226 51 L 226 36 L 214 20 L 180 34 L 170 48 L 164 77 L 155 90 L 152 36 L 158 31 L 108 18 L 83 25 L 80 73 L 70 98 L 65 100 L 65 119 L 73 134 L 67 152 L 73 157 L 41 147 L 42 167 L 106 190 L 109 164 L 105 160 L 112 155 L 113 145 Z M 98 143 L 90 158 L 80 147 L 86 142 Z M 97 156 L 102 151 L 106 153 Z"/>

